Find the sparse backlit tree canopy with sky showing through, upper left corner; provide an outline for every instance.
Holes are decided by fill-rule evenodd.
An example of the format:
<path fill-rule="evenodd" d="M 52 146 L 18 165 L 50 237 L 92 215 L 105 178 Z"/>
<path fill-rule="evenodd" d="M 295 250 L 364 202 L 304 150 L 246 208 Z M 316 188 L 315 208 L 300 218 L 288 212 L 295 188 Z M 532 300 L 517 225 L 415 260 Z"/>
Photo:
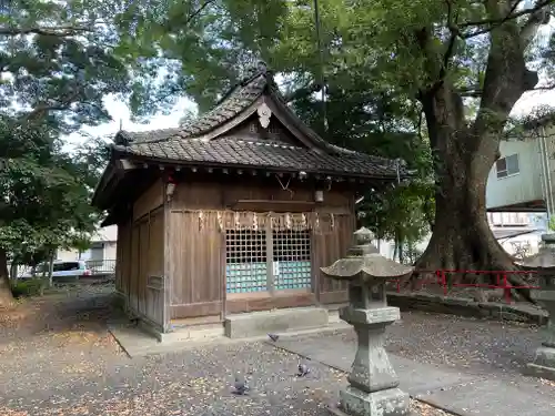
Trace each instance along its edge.
<path fill-rule="evenodd" d="M 110 119 L 103 99 L 128 91 L 129 72 L 112 53 L 114 8 L 104 1 L 10 1 L 0 19 L 3 113 L 62 132 Z"/>

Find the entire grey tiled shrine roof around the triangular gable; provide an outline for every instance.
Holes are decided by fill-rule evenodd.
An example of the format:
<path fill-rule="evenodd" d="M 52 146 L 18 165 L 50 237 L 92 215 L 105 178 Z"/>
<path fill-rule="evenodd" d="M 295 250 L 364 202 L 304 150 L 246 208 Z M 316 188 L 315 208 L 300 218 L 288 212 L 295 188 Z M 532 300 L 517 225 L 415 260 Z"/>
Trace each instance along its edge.
<path fill-rule="evenodd" d="M 262 94 L 268 94 L 276 103 L 287 122 L 294 124 L 311 145 L 301 148 L 285 143 L 250 141 L 225 133 L 210 141 L 200 139 L 242 113 Z M 363 176 L 397 174 L 394 161 L 335 146 L 303 124 L 283 101 L 271 72 L 266 71 L 265 67 L 259 68 L 256 73 L 239 83 L 213 110 L 190 124 L 139 133 L 121 131 L 117 136 L 114 150 L 123 154 L 186 164 L 269 168 Z M 401 175 L 406 175 L 404 169 Z"/>

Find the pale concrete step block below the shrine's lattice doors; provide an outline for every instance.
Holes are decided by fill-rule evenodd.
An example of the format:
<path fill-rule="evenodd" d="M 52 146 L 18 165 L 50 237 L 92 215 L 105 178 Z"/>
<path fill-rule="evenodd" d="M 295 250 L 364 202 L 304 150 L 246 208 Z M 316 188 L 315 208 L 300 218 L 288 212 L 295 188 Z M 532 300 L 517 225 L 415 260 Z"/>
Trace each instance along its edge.
<path fill-rule="evenodd" d="M 231 315 L 225 319 L 224 331 L 225 336 L 230 338 L 245 338 L 268 333 L 323 327 L 327 324 L 326 308 L 295 307 Z"/>

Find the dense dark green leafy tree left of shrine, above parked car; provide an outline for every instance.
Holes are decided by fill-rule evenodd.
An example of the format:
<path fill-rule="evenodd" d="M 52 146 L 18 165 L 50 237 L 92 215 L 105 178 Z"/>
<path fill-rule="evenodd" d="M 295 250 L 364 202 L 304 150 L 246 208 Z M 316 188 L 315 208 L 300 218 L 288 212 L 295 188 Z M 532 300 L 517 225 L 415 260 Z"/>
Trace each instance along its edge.
<path fill-rule="evenodd" d="M 56 133 L 0 120 L 0 246 L 16 255 L 68 246 L 99 220 L 89 200 L 93 184 L 80 158 L 59 151 Z M 89 183 L 88 183 L 89 182 Z"/>

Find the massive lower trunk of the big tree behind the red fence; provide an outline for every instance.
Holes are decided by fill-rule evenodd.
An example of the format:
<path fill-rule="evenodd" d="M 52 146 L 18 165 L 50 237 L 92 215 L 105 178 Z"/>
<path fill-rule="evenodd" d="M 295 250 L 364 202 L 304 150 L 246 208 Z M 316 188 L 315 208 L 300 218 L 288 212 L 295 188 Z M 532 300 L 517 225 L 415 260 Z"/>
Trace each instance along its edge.
<path fill-rule="evenodd" d="M 486 182 L 498 159 L 500 135 L 477 134 L 467 128 L 460 97 L 446 88 L 423 100 L 423 104 L 436 156 L 436 213 L 432 239 L 416 262 L 416 270 L 517 270 L 486 219 Z M 454 283 L 474 283 L 477 277 L 468 273 L 451 276 Z M 507 278 L 515 285 L 524 285 L 517 275 L 508 274 Z M 528 290 L 518 292 L 532 302 Z"/>

